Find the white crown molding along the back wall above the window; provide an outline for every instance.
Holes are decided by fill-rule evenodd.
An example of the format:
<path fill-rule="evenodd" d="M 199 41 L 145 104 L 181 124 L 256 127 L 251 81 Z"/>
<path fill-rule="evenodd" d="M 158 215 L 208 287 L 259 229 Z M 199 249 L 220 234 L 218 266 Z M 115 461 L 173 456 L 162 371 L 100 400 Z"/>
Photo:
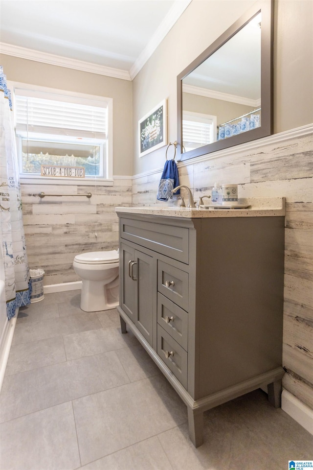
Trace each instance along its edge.
<path fill-rule="evenodd" d="M 107 77 L 121 78 L 122 80 L 131 80 L 128 71 L 113 69 L 103 65 L 92 64 L 77 59 L 69 59 L 60 55 L 50 54 L 48 52 L 40 52 L 35 49 L 27 49 L 26 47 L 14 46 L 13 44 L 0 43 L 1 54 L 19 57 L 20 59 L 34 60 L 44 64 L 56 65 L 58 67 L 66 67 L 67 69 L 80 70 Z"/>

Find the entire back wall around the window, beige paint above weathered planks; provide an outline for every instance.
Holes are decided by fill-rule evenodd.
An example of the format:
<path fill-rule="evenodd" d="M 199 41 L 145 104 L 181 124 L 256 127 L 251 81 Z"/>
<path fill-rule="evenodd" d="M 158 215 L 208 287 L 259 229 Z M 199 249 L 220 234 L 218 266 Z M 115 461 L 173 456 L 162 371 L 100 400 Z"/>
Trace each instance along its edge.
<path fill-rule="evenodd" d="M 45 185 L 42 180 L 38 184 L 21 184 L 30 269 L 44 269 L 45 285 L 78 281 L 72 267 L 75 255 L 116 249 L 118 219 L 114 208 L 132 204 L 132 181 L 127 178 L 132 173 L 132 82 L 4 54 L 0 63 L 11 81 L 113 99 L 113 186 L 97 182 L 93 186 L 68 187 L 60 181 Z M 90 191 L 92 197 L 41 199 L 40 191 L 52 194 Z"/>

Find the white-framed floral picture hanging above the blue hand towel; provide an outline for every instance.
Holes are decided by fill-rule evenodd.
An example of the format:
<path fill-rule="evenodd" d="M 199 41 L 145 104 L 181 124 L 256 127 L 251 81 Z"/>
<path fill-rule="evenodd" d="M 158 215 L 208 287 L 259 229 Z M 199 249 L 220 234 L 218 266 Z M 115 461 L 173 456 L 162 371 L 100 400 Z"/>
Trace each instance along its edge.
<path fill-rule="evenodd" d="M 163 99 L 138 121 L 139 158 L 167 142 L 167 103 Z"/>

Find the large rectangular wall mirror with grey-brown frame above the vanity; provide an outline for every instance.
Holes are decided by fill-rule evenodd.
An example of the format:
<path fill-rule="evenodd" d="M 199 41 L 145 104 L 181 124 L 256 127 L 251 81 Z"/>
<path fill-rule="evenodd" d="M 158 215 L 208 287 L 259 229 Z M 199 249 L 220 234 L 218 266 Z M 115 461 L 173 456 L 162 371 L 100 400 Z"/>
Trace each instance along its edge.
<path fill-rule="evenodd" d="M 273 133 L 273 0 L 257 2 L 177 77 L 180 160 Z"/>

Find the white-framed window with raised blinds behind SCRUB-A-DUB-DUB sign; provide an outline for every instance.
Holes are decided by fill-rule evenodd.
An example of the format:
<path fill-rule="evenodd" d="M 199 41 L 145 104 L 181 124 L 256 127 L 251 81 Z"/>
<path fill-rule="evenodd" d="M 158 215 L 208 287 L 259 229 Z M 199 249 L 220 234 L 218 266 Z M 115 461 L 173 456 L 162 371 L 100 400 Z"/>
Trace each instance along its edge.
<path fill-rule="evenodd" d="M 84 183 L 112 179 L 111 98 L 15 86 L 14 113 L 21 178 L 45 164 L 84 167 Z"/>

